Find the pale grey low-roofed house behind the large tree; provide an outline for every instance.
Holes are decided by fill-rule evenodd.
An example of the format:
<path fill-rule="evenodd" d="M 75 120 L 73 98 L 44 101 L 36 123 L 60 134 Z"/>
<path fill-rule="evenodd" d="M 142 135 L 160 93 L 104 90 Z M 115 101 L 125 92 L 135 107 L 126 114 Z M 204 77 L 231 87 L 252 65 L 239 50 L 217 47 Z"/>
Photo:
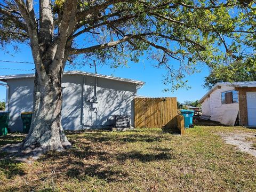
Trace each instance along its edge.
<path fill-rule="evenodd" d="M 22 131 L 20 113 L 33 110 L 34 74 L 0 76 L 6 89 L 11 131 Z M 129 116 L 134 126 L 134 97 L 144 82 L 83 71 L 62 78 L 62 126 L 81 130 L 109 126 L 114 115 Z"/>

